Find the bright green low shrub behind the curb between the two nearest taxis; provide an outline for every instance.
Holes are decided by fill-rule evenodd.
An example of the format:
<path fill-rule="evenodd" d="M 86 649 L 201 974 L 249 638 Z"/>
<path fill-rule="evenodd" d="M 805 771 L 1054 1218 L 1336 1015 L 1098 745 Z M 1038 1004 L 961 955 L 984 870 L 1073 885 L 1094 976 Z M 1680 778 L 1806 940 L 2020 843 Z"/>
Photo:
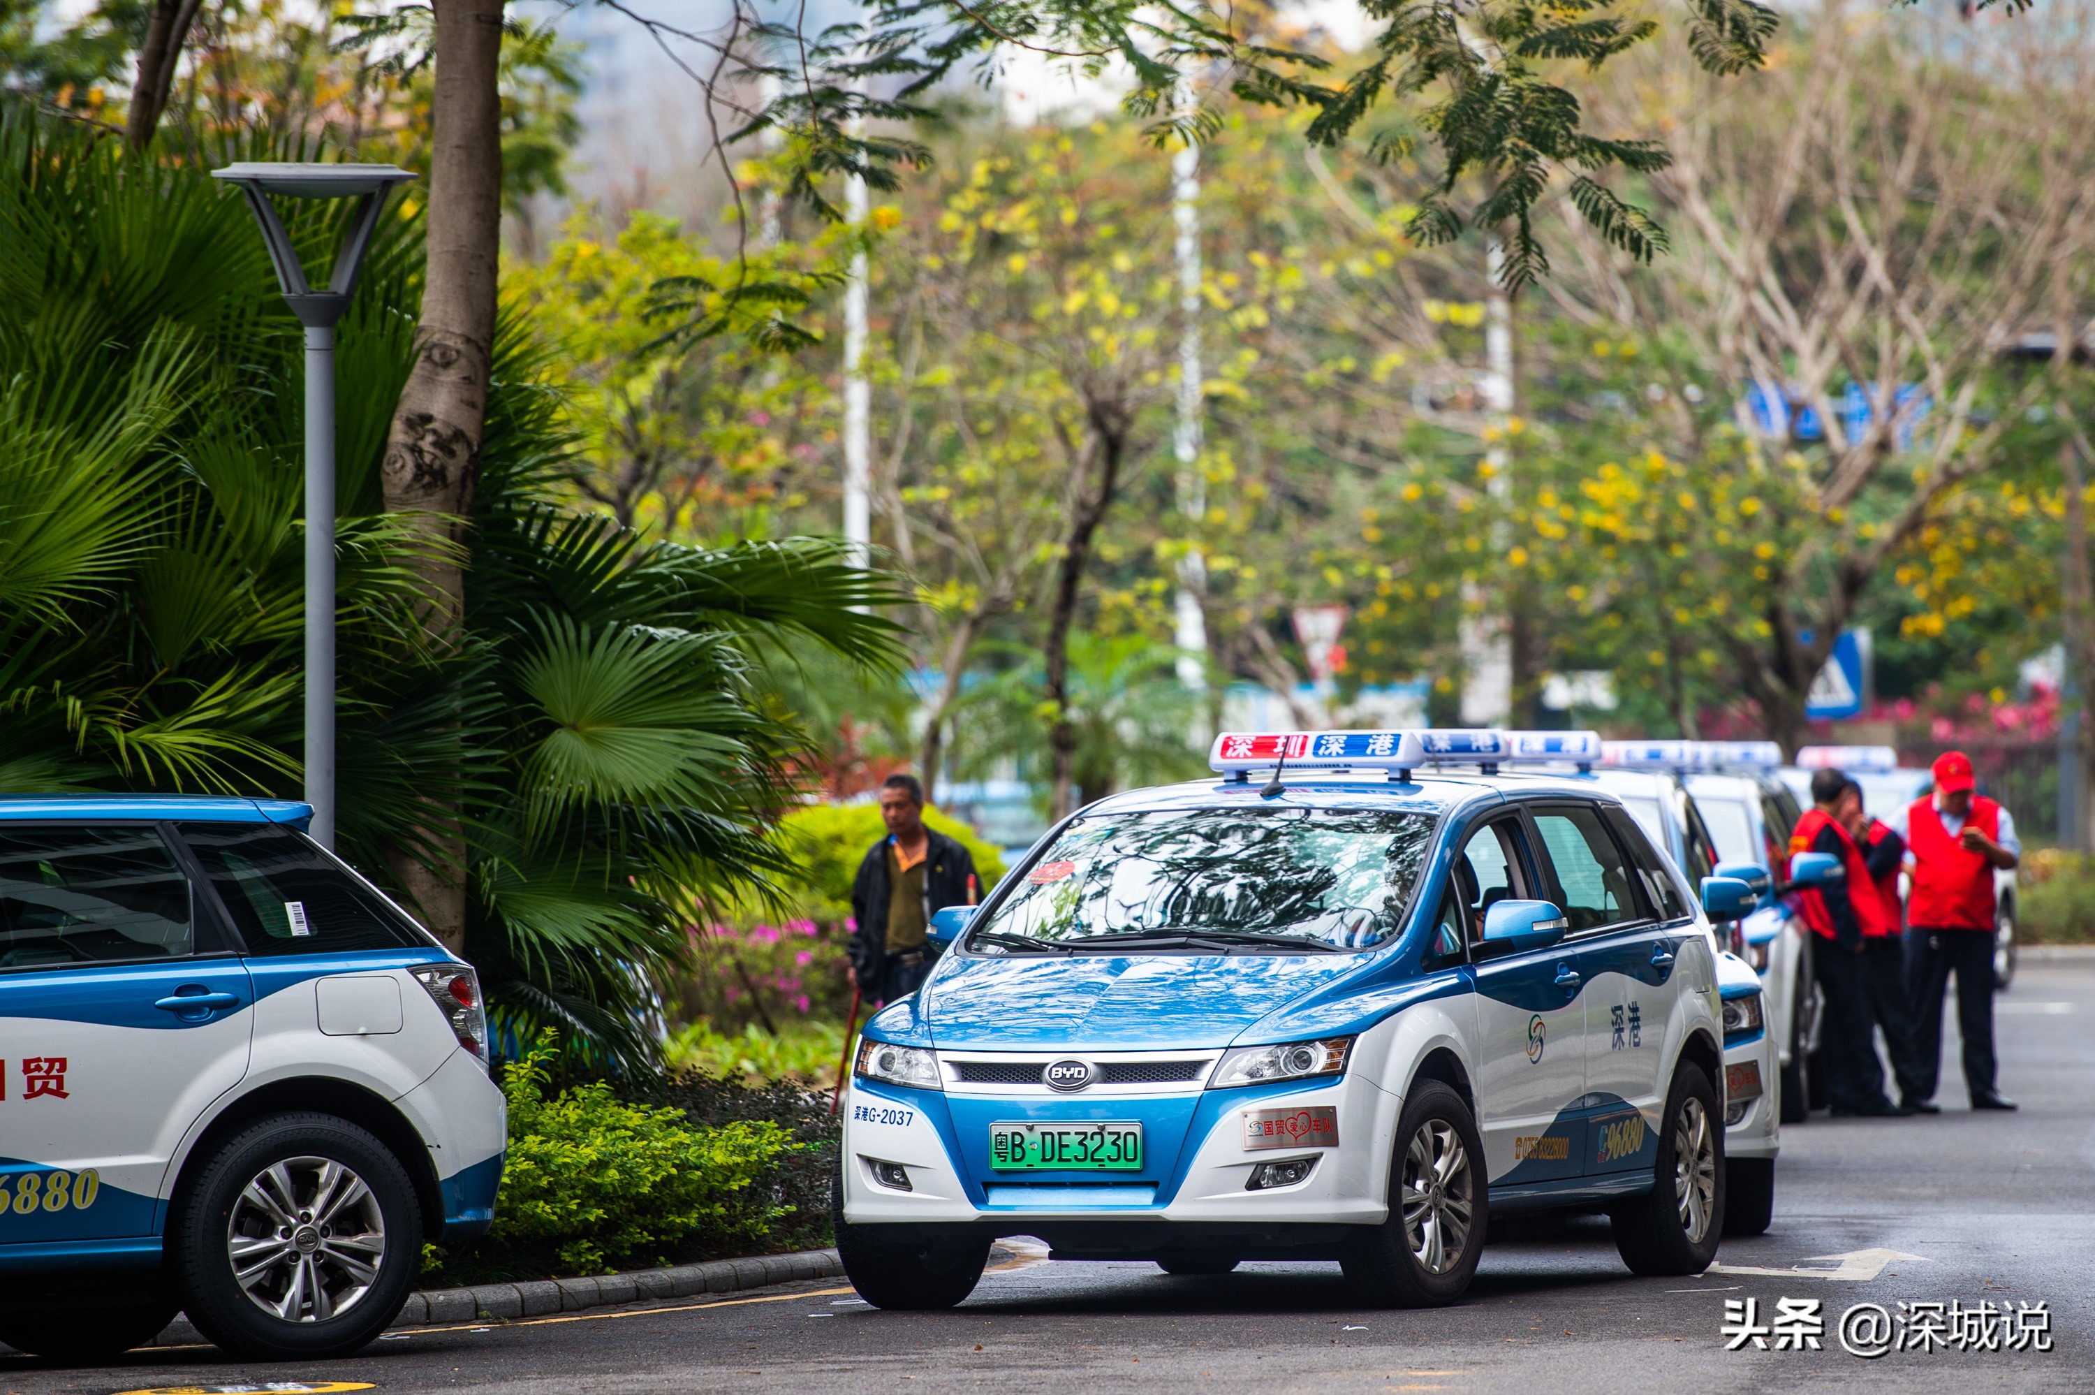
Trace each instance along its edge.
<path fill-rule="evenodd" d="M 566 1274 L 603 1271 L 706 1232 L 752 1253 L 781 1215 L 752 1183 L 796 1148 L 740 1121 L 693 1129 L 683 1110 L 626 1104 L 603 1081 L 547 1093 L 551 1037 L 509 1066 L 509 1156 L 486 1246 L 549 1253 Z"/>

